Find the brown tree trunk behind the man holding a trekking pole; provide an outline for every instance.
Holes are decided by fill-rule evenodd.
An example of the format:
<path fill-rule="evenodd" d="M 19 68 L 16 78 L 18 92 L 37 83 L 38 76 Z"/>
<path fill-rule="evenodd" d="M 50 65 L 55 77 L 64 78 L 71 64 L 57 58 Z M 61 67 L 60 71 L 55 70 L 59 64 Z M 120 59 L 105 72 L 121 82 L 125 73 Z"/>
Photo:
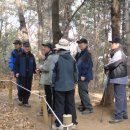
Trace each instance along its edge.
<path fill-rule="evenodd" d="M 112 37 L 120 36 L 120 3 L 119 0 L 112 0 L 111 5 L 111 22 L 112 22 Z M 113 86 L 108 86 L 105 90 L 101 105 L 110 106 L 114 103 Z"/>

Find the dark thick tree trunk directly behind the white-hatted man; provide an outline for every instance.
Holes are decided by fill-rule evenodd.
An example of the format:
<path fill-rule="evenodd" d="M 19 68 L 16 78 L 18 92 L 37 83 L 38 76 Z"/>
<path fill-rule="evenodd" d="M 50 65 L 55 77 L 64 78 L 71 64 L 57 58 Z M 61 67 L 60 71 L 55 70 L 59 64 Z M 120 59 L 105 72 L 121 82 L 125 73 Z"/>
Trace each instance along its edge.
<path fill-rule="evenodd" d="M 53 43 L 56 44 L 62 37 L 59 26 L 59 0 L 52 0 L 52 32 Z"/>

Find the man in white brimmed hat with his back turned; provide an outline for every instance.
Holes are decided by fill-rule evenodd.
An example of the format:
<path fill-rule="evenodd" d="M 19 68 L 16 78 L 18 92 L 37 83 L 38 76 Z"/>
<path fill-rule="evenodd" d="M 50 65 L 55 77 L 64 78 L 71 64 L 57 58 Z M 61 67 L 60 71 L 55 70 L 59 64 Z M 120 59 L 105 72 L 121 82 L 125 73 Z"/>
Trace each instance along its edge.
<path fill-rule="evenodd" d="M 73 127 L 76 127 L 75 110 L 75 82 L 77 81 L 77 67 L 74 58 L 70 55 L 69 42 L 61 39 L 56 44 L 57 54 L 53 56 L 50 76 L 55 90 L 55 113 L 63 123 L 63 115 L 71 114 Z M 67 109 L 67 112 L 65 111 Z M 53 130 L 63 130 L 63 127 L 56 120 Z"/>

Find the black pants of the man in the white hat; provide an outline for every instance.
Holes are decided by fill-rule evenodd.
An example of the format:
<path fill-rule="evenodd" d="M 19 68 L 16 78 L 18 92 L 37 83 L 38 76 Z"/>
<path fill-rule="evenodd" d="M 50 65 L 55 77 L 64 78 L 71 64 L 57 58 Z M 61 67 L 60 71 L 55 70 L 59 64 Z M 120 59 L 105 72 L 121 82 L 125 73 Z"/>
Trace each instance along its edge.
<path fill-rule="evenodd" d="M 75 91 L 60 92 L 55 91 L 55 113 L 63 123 L 63 115 L 66 113 L 65 108 L 67 109 L 67 114 L 72 115 L 72 122 L 76 124 L 76 110 L 75 110 L 75 100 L 74 100 Z M 56 126 L 59 127 L 60 124 L 56 120 Z"/>

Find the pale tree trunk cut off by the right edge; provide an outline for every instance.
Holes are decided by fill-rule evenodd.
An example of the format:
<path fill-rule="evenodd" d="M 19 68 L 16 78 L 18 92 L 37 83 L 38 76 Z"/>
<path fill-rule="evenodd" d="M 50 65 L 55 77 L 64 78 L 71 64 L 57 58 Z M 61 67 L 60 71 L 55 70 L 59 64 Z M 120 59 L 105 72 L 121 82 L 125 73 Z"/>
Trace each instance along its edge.
<path fill-rule="evenodd" d="M 128 76 L 130 77 L 130 14 L 129 1 L 125 0 L 126 8 L 126 42 L 127 42 L 127 56 L 128 56 Z"/>

